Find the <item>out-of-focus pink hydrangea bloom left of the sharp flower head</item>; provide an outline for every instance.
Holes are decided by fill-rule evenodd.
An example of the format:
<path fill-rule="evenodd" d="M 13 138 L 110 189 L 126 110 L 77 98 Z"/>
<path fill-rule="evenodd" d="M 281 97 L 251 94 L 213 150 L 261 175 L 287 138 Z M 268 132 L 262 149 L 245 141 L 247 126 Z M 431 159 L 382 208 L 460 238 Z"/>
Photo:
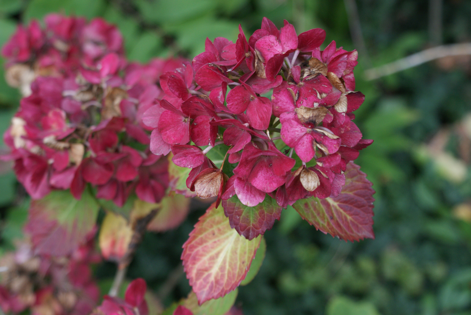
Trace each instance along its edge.
<path fill-rule="evenodd" d="M 25 86 L 4 134 L 12 151 L 3 158 L 15 161 L 18 181 L 34 199 L 52 189 L 80 198 L 90 183 L 98 198 L 119 206 L 133 192 L 159 202 L 168 162 L 150 152 L 153 128 L 142 116 L 164 95 L 161 74 L 183 60 L 127 62 L 121 33 L 102 19 L 87 24 L 52 14 L 45 24 L 19 26 L 2 49 L 9 81 Z"/>

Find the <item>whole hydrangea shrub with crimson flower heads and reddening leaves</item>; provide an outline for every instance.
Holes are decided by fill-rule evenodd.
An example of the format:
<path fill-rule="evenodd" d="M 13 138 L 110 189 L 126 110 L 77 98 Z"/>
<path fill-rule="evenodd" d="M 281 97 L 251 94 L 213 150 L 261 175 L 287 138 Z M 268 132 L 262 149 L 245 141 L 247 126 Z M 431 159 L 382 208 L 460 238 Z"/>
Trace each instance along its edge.
<path fill-rule="evenodd" d="M 146 228 L 179 225 L 186 197 L 212 198 L 183 245 L 194 292 L 168 310 L 196 314 L 231 312 L 228 293 L 247 283 L 252 261 L 252 274 L 260 268 L 262 235 L 288 206 L 324 233 L 374 238 L 374 190 L 353 163 L 373 142 L 353 122 L 365 99 L 354 91 L 357 51 L 335 41 L 320 50 L 324 30 L 298 35 L 263 18 L 250 36 L 239 26 L 235 43 L 206 39 L 191 62 L 139 64 L 102 19 L 44 23 L 20 25 L 2 48 L 8 83 L 24 96 L 2 158 L 33 199 L 35 254 L 71 257 L 102 207 L 102 257 L 124 273 Z M 16 307 L 8 288 L 4 311 Z M 94 312 L 147 314 L 145 292 L 137 279 Z"/>

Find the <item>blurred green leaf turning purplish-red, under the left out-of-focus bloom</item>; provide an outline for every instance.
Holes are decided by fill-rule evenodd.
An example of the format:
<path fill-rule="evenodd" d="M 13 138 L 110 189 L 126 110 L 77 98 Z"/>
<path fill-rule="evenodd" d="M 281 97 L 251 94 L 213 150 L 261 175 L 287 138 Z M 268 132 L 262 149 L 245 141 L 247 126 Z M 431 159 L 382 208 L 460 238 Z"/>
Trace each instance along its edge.
<path fill-rule="evenodd" d="M 69 191 L 53 191 L 31 202 L 24 229 L 37 252 L 65 256 L 85 243 L 95 227 L 97 214 L 98 204 L 88 191 L 80 200 Z"/>

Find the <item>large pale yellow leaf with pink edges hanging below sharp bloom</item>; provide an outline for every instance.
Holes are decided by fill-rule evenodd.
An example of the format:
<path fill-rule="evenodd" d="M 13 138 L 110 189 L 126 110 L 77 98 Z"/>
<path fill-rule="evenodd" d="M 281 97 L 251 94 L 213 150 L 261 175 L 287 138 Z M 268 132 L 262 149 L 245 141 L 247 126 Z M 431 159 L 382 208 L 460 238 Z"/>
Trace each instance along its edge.
<path fill-rule="evenodd" d="M 201 305 L 233 291 L 247 275 L 261 237 L 249 241 L 237 234 L 222 207 L 212 204 L 183 244 L 181 259 Z"/>

